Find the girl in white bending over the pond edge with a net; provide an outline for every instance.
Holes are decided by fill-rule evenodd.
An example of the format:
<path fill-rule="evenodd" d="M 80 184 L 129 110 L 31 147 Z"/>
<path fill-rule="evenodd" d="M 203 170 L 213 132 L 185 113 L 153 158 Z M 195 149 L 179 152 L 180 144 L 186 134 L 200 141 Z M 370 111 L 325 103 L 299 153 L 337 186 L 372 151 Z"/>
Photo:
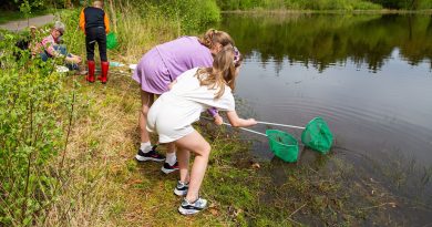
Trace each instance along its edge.
<path fill-rule="evenodd" d="M 181 74 L 152 105 L 147 115 L 147 130 L 158 134 L 160 143 L 173 142 L 177 147 L 181 179 L 174 193 L 185 196 L 178 211 L 191 215 L 206 208 L 207 200 L 199 197 L 199 187 L 207 168 L 210 145 L 194 130 L 192 124 L 202 112 L 214 106 L 227 112 L 233 126 L 256 124 L 254 118 L 238 117 L 233 90 L 241 56 L 236 48 L 227 45 L 215 56 L 213 68 L 195 68 Z M 222 122 L 216 122 L 218 125 Z M 195 161 L 188 172 L 189 153 Z"/>

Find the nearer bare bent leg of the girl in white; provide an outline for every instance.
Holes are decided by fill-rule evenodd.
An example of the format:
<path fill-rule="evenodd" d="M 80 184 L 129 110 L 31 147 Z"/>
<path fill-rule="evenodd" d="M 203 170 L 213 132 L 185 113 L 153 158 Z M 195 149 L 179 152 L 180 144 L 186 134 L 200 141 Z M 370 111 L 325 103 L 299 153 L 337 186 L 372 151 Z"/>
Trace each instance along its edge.
<path fill-rule="evenodd" d="M 181 149 L 195 153 L 194 165 L 191 171 L 189 188 L 186 195 L 186 199 L 188 202 L 195 202 L 198 198 L 200 184 L 203 183 L 203 178 L 207 169 L 208 156 L 212 147 L 196 131 L 177 140 L 175 144 Z"/>

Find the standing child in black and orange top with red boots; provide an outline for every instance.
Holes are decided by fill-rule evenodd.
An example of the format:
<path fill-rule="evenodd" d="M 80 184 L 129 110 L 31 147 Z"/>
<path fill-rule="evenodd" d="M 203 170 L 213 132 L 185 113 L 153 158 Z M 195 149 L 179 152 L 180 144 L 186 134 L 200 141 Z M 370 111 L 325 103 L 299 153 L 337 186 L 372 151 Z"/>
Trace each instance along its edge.
<path fill-rule="evenodd" d="M 107 81 L 109 65 L 106 56 L 106 33 L 110 31 L 109 18 L 103 11 L 102 1 L 94 1 L 93 7 L 86 7 L 80 14 L 80 28 L 85 33 L 89 73 L 85 80 L 93 83 L 94 78 L 94 44 L 97 42 L 101 56 L 102 74 L 97 78 L 102 83 Z"/>

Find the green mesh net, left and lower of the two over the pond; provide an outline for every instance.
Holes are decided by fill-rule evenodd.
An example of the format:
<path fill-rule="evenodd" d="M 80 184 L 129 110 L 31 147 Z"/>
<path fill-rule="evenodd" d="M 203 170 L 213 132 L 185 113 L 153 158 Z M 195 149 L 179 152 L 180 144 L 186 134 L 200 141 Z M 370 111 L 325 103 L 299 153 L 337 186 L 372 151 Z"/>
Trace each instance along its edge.
<path fill-rule="evenodd" d="M 266 135 L 271 152 L 287 163 L 295 163 L 298 159 L 298 141 L 290 134 L 267 130 Z"/>

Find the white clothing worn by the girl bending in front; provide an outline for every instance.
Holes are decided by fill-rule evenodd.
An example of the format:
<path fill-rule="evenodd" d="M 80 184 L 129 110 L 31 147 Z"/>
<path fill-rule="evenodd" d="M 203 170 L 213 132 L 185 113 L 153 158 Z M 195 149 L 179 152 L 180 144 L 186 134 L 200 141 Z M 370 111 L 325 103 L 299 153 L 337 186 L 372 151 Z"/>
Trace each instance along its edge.
<path fill-rule="evenodd" d="M 147 114 L 147 131 L 160 135 L 160 143 L 179 140 L 192 132 L 192 123 L 199 120 L 209 107 L 219 111 L 235 111 L 235 101 L 229 86 L 215 100 L 217 90 L 200 86 L 196 78 L 198 68 L 188 70 L 177 78 L 172 90 L 162 94 Z"/>

